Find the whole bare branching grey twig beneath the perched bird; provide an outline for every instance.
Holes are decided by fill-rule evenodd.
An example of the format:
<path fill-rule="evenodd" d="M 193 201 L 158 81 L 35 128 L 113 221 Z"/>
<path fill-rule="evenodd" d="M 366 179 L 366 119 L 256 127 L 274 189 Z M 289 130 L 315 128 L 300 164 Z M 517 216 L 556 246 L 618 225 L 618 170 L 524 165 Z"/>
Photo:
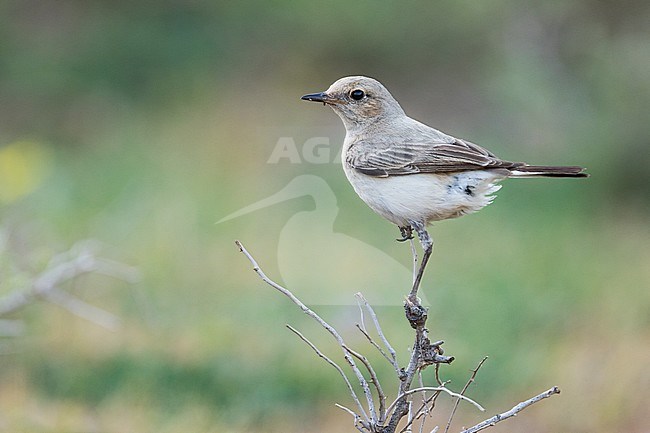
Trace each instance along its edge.
<path fill-rule="evenodd" d="M 352 385 L 350 379 L 348 379 L 345 371 L 341 368 L 334 360 L 324 355 L 311 341 L 307 339 L 302 333 L 300 333 L 295 328 L 287 325 L 289 330 L 296 334 L 301 340 L 303 340 L 320 358 L 324 359 L 328 364 L 334 367 L 339 375 L 343 378 L 348 392 L 352 397 L 352 400 L 355 403 L 356 410 L 350 409 L 346 406 L 336 404 L 336 406 L 345 412 L 349 413 L 354 418 L 354 427 L 362 433 L 405 433 L 411 432 L 411 426 L 414 422 L 419 422 L 420 427 L 419 431 L 422 432 L 424 428 L 424 423 L 426 417 L 430 415 L 433 411 L 433 408 L 436 403 L 436 399 L 442 393 L 449 395 L 451 398 L 454 398 L 455 404 L 447 421 L 444 433 L 448 433 L 456 409 L 460 401 L 465 401 L 469 404 L 472 404 L 480 411 L 484 411 L 483 407 L 475 402 L 474 400 L 465 396 L 465 392 L 469 386 L 474 382 L 474 378 L 478 373 L 478 370 L 481 368 L 483 363 L 486 361 L 486 358 L 477 365 L 477 367 L 472 370 L 472 375 L 465 384 L 464 388 L 460 393 L 456 393 L 449 388 L 447 388 L 447 382 L 442 382 L 439 377 L 439 367 L 441 364 L 450 364 L 454 361 L 453 356 L 447 356 L 444 354 L 442 348 L 443 341 L 431 342 L 427 336 L 427 329 L 425 327 L 426 321 L 428 318 L 427 309 L 424 308 L 420 300 L 417 297 L 417 289 L 415 292 L 411 290 L 409 296 L 407 297 L 404 304 L 404 311 L 406 318 L 410 326 L 415 330 L 415 339 L 413 342 L 413 349 L 411 350 L 411 355 L 408 361 L 408 364 L 405 367 L 400 367 L 397 361 L 397 355 L 393 347 L 390 345 L 386 339 L 377 315 L 366 301 L 366 299 L 360 293 L 356 294 L 356 298 L 359 304 L 359 309 L 361 312 L 361 321 L 357 324 L 358 330 L 364 335 L 364 337 L 375 347 L 381 355 L 389 362 L 395 369 L 395 373 L 398 379 L 398 392 L 395 399 L 388 406 L 386 405 L 386 394 L 379 382 L 377 374 L 370 364 L 370 361 L 361 353 L 353 350 L 348 346 L 343 337 L 323 320 L 316 312 L 307 307 L 300 299 L 298 299 L 291 291 L 287 288 L 279 285 L 275 281 L 271 280 L 266 276 L 262 271 L 260 266 L 257 264 L 257 261 L 253 256 L 246 250 L 241 242 L 235 241 L 235 244 L 239 250 L 246 256 L 246 258 L 253 265 L 253 270 L 258 274 L 258 276 L 266 284 L 270 285 L 286 297 L 288 297 L 294 304 L 296 304 L 305 314 L 310 316 L 312 319 L 317 321 L 325 330 L 327 330 L 332 337 L 337 341 L 343 352 L 343 359 L 348 364 L 348 367 L 352 370 L 353 374 L 357 378 L 358 384 L 361 386 L 363 391 L 363 396 L 365 400 L 365 405 L 362 403 L 362 399 L 359 398 L 355 387 Z M 415 248 L 413 247 L 413 241 L 411 240 L 411 246 L 414 256 L 414 262 L 417 261 L 417 256 Z M 414 265 L 414 272 L 415 272 Z M 414 277 L 415 279 L 415 277 Z M 417 280 L 417 279 L 415 279 Z M 417 286 L 414 286 L 417 287 Z M 376 334 L 379 336 L 381 344 L 375 341 L 371 336 L 370 332 L 365 326 L 364 323 L 364 311 L 370 316 L 372 323 L 374 324 Z M 382 347 L 383 346 L 383 347 Z M 355 361 L 356 360 L 356 361 Z M 357 364 L 358 362 L 358 364 Z M 423 384 L 422 373 L 428 366 L 435 366 L 435 380 L 436 386 L 425 386 Z M 368 378 L 366 378 L 368 377 Z M 413 380 L 419 378 L 420 386 L 413 387 Z M 432 393 L 427 396 L 427 392 Z M 541 393 L 533 398 L 530 398 L 524 402 L 519 403 L 512 409 L 501 414 L 497 414 L 491 418 L 486 419 L 485 421 L 476 424 L 469 429 L 463 430 L 461 433 L 476 433 L 480 430 L 491 427 L 498 422 L 501 422 L 505 419 L 515 416 L 517 413 L 525 409 L 526 407 L 537 403 L 545 398 L 548 398 L 554 394 L 559 394 L 560 390 L 557 387 L 553 387 L 550 390 Z M 421 395 L 422 404 L 417 410 L 414 410 L 414 404 L 412 397 L 415 395 Z M 402 426 L 401 430 L 398 430 L 400 423 L 406 417 L 406 423 Z M 402 423 L 404 424 L 404 423 Z M 436 426 L 433 432 L 437 432 L 439 429 Z"/>

